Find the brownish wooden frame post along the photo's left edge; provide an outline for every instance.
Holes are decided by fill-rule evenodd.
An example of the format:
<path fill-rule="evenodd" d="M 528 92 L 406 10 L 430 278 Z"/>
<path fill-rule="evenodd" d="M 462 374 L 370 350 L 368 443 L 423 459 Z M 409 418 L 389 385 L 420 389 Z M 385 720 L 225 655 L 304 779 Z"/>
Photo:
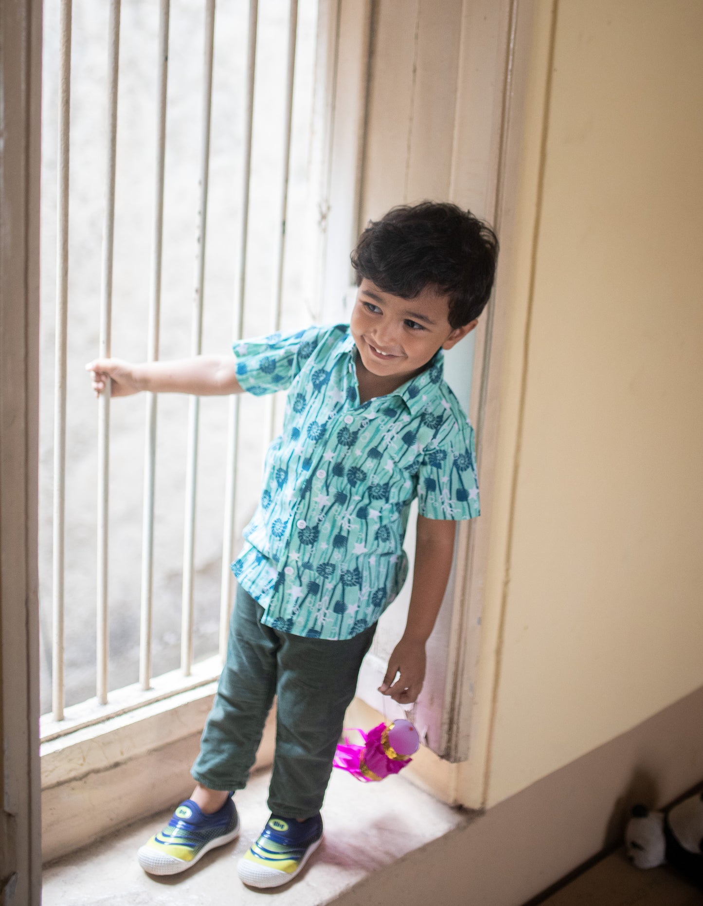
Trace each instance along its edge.
<path fill-rule="evenodd" d="M 41 901 L 37 472 L 42 2 L 0 3 L 0 901 Z"/>

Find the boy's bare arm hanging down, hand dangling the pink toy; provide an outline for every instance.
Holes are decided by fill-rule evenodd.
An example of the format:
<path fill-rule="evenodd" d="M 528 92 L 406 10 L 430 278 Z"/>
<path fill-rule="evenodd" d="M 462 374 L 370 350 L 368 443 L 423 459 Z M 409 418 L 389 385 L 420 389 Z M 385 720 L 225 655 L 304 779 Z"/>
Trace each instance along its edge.
<path fill-rule="evenodd" d="M 388 670 L 379 688 L 401 705 L 408 705 L 418 698 L 425 680 L 425 644 L 447 588 L 456 526 L 452 520 L 418 516 L 408 621 L 390 655 Z M 395 679 L 399 672 L 400 677 Z"/>

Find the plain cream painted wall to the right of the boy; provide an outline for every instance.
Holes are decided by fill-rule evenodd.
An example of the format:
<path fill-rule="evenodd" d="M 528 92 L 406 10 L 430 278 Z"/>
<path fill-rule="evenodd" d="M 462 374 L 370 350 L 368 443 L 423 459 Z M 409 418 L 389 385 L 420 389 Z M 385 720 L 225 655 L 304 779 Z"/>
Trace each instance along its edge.
<path fill-rule="evenodd" d="M 470 804 L 703 684 L 703 5 L 530 27 Z"/>

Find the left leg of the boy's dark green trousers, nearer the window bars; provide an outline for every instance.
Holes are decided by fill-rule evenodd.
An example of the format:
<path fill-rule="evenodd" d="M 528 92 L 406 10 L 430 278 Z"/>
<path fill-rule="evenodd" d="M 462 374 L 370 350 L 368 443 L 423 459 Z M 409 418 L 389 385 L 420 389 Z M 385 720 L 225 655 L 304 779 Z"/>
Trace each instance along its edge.
<path fill-rule="evenodd" d="M 274 700 L 278 633 L 259 622 L 263 609 L 237 586 L 226 664 L 190 773 L 203 786 L 246 786 Z"/>

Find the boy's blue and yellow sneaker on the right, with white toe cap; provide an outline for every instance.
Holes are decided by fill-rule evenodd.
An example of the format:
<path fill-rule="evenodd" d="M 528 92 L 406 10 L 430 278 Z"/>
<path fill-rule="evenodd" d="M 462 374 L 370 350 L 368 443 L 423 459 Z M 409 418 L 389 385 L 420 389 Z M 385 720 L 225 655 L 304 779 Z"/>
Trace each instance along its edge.
<path fill-rule="evenodd" d="M 323 839 L 320 813 L 306 821 L 272 814 L 264 830 L 239 860 L 240 879 L 251 887 L 278 887 L 301 871 Z"/>

